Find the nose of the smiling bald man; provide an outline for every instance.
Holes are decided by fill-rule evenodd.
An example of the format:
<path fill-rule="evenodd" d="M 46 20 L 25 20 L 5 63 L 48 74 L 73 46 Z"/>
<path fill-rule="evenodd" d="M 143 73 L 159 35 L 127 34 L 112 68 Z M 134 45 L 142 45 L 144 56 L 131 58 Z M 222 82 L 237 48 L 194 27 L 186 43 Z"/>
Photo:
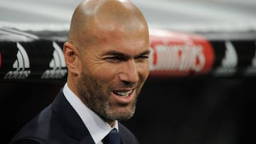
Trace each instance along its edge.
<path fill-rule="evenodd" d="M 122 64 L 121 72 L 119 73 L 119 79 L 123 82 L 137 83 L 139 81 L 139 73 L 137 71 L 137 65 L 134 60 L 127 60 Z"/>

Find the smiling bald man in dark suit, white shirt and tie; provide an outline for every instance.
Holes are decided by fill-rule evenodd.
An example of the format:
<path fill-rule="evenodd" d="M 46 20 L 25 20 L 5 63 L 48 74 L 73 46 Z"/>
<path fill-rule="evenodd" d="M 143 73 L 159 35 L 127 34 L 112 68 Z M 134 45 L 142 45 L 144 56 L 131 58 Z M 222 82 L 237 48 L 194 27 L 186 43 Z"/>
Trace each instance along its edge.
<path fill-rule="evenodd" d="M 11 143 L 101 144 L 112 129 L 123 144 L 138 143 L 118 121 L 134 115 L 149 75 L 149 29 L 141 11 L 128 0 L 83 1 L 63 52 L 67 83 Z"/>

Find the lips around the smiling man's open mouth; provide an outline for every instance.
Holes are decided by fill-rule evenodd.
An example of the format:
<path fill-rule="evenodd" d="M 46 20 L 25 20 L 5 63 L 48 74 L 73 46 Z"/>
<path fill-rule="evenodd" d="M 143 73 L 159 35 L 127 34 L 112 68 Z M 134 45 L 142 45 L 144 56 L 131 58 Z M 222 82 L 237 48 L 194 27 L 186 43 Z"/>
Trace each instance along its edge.
<path fill-rule="evenodd" d="M 132 92 L 129 94 L 129 96 L 124 97 L 124 96 L 119 96 L 117 94 L 114 94 L 114 92 L 127 92 L 132 90 Z M 135 96 L 136 89 L 118 89 L 112 91 L 112 97 L 115 99 L 115 101 L 118 101 L 120 103 L 129 103 L 129 101 L 132 101 L 133 97 Z"/>

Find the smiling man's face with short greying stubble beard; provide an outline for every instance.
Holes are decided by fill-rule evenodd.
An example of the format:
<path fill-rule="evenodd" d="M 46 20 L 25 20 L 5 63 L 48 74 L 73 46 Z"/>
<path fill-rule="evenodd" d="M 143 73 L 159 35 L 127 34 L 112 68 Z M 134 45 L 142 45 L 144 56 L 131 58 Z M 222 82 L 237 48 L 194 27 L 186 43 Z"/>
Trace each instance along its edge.
<path fill-rule="evenodd" d="M 82 52 L 78 93 L 107 120 L 133 116 L 137 96 L 149 75 L 147 33 L 108 33 Z"/>

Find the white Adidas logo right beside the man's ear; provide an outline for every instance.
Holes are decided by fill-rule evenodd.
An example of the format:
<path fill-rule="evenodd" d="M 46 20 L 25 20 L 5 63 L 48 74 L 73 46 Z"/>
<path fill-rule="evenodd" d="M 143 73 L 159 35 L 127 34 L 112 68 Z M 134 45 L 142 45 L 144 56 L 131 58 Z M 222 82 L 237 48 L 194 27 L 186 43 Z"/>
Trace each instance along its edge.
<path fill-rule="evenodd" d="M 53 42 L 53 48 L 53 60 L 49 63 L 51 69 L 43 72 L 41 79 L 60 79 L 65 77 L 68 72 L 65 68 L 65 59 L 60 46 Z"/>

